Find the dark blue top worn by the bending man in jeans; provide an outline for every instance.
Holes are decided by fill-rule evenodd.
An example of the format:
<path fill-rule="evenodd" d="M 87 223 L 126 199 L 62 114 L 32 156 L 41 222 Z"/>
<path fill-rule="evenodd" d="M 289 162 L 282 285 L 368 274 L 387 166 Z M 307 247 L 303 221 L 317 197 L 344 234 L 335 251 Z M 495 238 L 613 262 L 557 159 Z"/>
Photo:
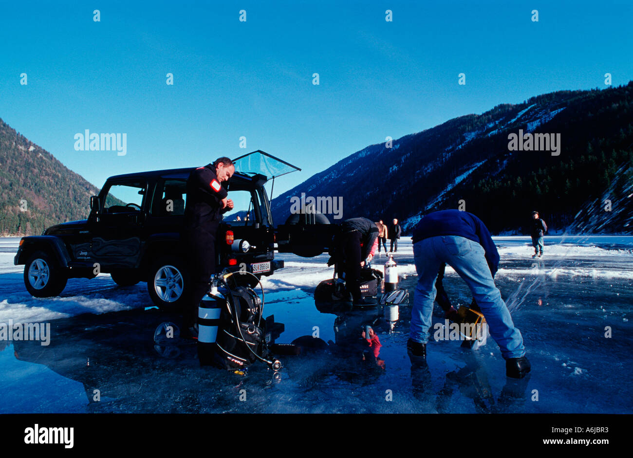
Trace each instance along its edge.
<path fill-rule="evenodd" d="M 437 235 L 458 235 L 477 242 L 486 251 L 486 261 L 492 273 L 499 267 L 499 252 L 492 242 L 490 232 L 484 222 L 472 213 L 459 210 L 441 210 L 427 214 L 413 229 L 415 244 L 424 238 Z"/>

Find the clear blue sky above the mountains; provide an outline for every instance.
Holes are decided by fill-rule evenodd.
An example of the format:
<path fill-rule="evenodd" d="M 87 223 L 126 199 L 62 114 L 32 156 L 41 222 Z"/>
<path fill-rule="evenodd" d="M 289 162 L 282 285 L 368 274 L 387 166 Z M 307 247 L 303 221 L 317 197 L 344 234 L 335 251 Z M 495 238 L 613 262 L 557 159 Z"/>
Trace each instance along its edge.
<path fill-rule="evenodd" d="M 0 118 L 97 187 L 262 149 L 303 169 L 279 195 L 387 135 L 627 84 L 632 22 L 630 0 L 5 1 Z M 75 151 L 85 129 L 127 133 L 127 154 Z"/>

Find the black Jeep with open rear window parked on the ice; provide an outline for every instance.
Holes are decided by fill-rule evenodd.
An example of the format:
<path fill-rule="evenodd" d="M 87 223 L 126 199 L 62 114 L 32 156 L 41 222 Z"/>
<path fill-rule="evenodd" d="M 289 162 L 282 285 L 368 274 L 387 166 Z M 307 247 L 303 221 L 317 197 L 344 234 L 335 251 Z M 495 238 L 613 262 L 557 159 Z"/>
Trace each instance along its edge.
<path fill-rule="evenodd" d="M 23 237 L 14 264 L 25 265 L 28 292 L 35 297 L 55 296 L 68 278 L 110 273 L 121 286 L 147 282 L 149 295 L 161 309 L 180 306 L 191 284 L 180 230 L 185 185 L 192 170 L 111 176 L 99 195 L 91 197 L 87 220 L 61 223 L 40 236 Z M 327 251 L 334 230 L 323 226 L 327 218 L 319 218 L 318 226 L 310 224 L 310 218 L 294 218 L 277 230 L 273 226 L 264 189 L 267 175 L 274 179 L 294 170 L 300 169 L 263 151 L 235 160 L 235 173 L 227 185 L 235 207 L 218 230 L 217 271 L 248 271 L 258 278 L 272 275 L 284 267 L 284 261 L 274 259 L 275 242 L 278 251 L 299 256 Z M 250 283 L 253 276 L 234 278 Z"/>

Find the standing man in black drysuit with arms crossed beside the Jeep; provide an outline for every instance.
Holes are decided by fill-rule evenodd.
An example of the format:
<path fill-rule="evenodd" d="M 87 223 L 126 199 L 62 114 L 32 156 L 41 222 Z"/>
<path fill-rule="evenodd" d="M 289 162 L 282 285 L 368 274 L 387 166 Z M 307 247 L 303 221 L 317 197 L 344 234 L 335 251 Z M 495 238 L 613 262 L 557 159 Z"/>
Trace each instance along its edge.
<path fill-rule="evenodd" d="M 191 289 L 183 311 L 184 329 L 197 337 L 197 308 L 209 290 L 209 280 L 215 273 L 215 237 L 222 213 L 233 208 L 233 201 L 222 187 L 235 173 L 229 158 L 219 158 L 212 164 L 191 172 L 187 180 L 182 241 L 191 273 Z"/>

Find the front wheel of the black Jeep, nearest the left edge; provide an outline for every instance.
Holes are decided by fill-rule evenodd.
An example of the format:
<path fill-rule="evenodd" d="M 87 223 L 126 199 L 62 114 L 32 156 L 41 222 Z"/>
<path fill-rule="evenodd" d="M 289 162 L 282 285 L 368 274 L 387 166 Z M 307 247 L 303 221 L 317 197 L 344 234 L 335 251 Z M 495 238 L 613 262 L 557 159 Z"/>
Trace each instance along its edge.
<path fill-rule="evenodd" d="M 68 276 L 57 260 L 44 251 L 34 252 L 24 266 L 24 285 L 34 297 L 60 295 Z"/>

